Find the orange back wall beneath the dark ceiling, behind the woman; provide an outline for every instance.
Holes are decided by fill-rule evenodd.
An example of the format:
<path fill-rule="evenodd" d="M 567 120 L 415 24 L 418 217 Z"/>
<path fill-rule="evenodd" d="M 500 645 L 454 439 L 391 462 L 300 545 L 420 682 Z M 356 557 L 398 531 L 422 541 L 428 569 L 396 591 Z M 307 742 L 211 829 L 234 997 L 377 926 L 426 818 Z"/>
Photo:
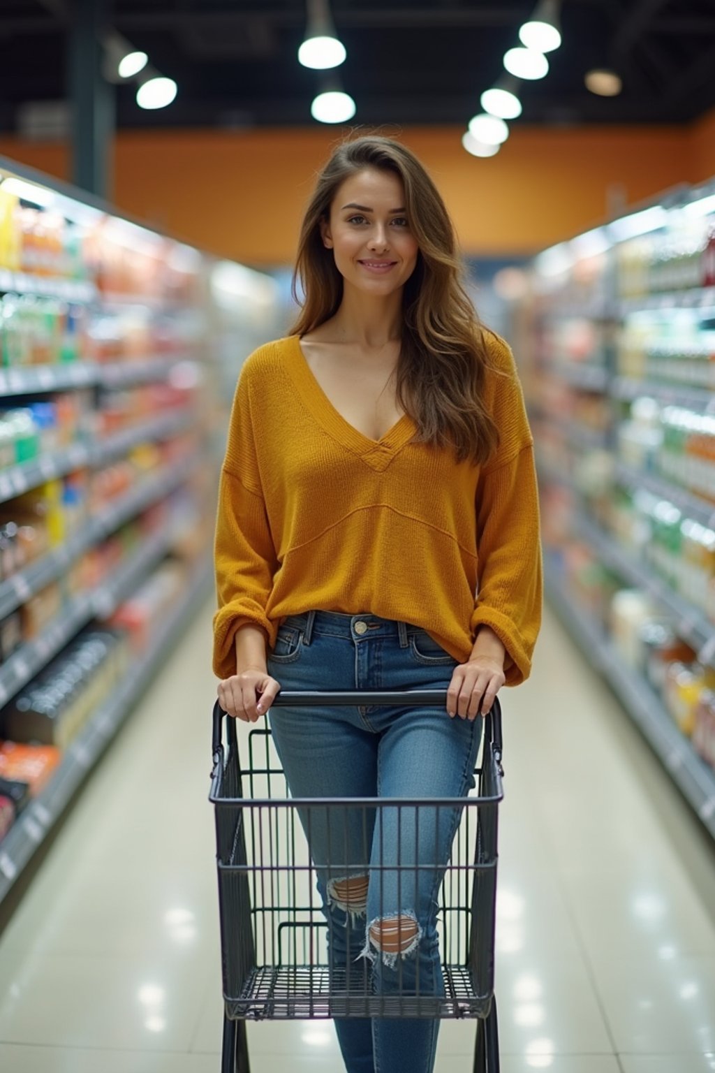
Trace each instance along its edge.
<path fill-rule="evenodd" d="M 459 128 L 408 128 L 473 255 L 531 253 L 637 204 L 715 174 L 715 113 L 697 126 L 522 127 L 490 160 L 470 157 Z M 205 249 L 255 265 L 292 261 L 313 176 L 341 136 L 328 128 L 122 132 L 117 206 Z M 60 177 L 58 145 L 0 139 L 0 153 Z"/>

